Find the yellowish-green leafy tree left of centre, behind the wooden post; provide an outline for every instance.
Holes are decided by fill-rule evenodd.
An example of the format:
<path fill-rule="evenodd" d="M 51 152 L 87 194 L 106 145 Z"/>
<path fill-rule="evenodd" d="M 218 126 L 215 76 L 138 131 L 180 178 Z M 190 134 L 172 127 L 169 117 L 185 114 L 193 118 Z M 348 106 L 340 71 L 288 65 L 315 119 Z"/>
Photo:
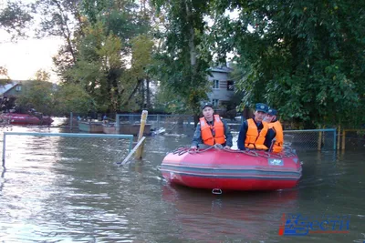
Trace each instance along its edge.
<path fill-rule="evenodd" d="M 126 70 L 125 66 L 132 50 L 130 41 L 148 29 L 148 21 L 129 0 L 84 1 L 80 6 L 85 24 L 73 39 L 76 61 L 68 65 L 70 58 L 65 55 L 55 61 L 64 82 L 83 86 L 100 111 L 115 112 L 131 104 L 130 98 L 138 94 L 143 83 L 139 79 L 145 78 L 134 74 L 140 67 L 133 68 L 132 64 Z"/>

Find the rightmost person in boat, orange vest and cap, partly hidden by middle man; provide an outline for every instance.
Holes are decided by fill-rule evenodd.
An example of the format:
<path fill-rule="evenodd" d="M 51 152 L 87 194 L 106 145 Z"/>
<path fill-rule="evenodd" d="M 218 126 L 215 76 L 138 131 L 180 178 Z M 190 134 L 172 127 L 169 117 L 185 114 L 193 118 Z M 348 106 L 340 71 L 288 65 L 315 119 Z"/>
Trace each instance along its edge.
<path fill-rule="evenodd" d="M 281 126 L 280 121 L 277 119 L 276 109 L 269 108 L 266 117 L 264 118 L 264 121 L 268 123 L 269 129 L 273 131 L 273 134 L 271 136 L 275 138 L 275 142 L 273 141 L 274 145 L 272 146 L 272 151 L 274 153 L 280 153 L 281 151 L 283 151 L 284 133 L 283 127 Z"/>

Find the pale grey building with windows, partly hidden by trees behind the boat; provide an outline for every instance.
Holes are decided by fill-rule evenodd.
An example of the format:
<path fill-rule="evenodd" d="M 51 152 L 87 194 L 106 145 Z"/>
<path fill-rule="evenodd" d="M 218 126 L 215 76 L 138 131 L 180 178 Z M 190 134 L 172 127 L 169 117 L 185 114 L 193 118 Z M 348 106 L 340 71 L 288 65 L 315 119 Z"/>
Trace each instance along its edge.
<path fill-rule="evenodd" d="M 211 67 L 212 76 L 208 76 L 208 80 L 212 82 L 212 92 L 208 97 L 212 104 L 220 108 L 226 105 L 235 92 L 235 82 L 230 78 L 230 73 L 233 71 L 228 66 Z"/>

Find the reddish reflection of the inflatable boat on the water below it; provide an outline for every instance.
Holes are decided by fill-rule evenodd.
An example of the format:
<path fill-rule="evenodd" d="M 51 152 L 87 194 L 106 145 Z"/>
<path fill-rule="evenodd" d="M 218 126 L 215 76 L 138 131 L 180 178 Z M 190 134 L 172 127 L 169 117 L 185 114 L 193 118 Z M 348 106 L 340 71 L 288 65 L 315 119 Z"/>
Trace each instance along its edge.
<path fill-rule="evenodd" d="M 297 209 L 297 190 L 236 192 L 215 196 L 185 187 L 162 187 L 162 197 L 176 209 L 174 223 L 184 239 L 265 240 L 277 234 L 284 210 Z"/>

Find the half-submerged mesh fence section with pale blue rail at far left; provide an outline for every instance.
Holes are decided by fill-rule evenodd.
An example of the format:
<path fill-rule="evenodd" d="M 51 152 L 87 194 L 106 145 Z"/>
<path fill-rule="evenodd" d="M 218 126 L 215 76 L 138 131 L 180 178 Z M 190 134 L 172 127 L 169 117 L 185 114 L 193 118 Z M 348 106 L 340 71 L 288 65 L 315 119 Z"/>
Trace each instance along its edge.
<path fill-rule="evenodd" d="M 4 132 L 3 167 L 10 157 L 118 162 L 132 143 L 132 135 Z"/>

